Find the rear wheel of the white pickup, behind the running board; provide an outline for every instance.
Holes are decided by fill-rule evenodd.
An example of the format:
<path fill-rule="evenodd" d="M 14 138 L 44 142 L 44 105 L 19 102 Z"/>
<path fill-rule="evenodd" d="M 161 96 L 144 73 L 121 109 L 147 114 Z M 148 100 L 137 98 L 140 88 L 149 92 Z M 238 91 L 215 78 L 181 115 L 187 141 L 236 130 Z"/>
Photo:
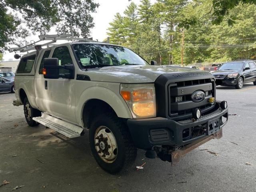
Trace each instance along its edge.
<path fill-rule="evenodd" d="M 37 126 L 39 123 L 34 121 L 32 118 L 40 117 L 42 115 L 42 112 L 35 108 L 32 108 L 27 97 L 24 99 L 23 103 L 24 103 L 24 115 L 26 118 L 26 122 L 31 127 Z"/>

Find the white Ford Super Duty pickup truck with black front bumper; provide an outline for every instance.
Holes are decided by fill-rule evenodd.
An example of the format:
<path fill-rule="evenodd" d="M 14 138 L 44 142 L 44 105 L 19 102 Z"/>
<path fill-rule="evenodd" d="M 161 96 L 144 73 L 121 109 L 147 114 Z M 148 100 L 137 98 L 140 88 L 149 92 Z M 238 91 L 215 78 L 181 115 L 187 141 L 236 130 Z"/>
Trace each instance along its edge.
<path fill-rule="evenodd" d="M 222 137 L 226 101 L 204 71 L 148 64 L 112 44 L 71 42 L 22 56 L 16 100 L 29 126 L 74 138 L 89 132 L 94 158 L 107 172 L 131 166 L 137 148 L 176 164 L 190 150 Z"/>

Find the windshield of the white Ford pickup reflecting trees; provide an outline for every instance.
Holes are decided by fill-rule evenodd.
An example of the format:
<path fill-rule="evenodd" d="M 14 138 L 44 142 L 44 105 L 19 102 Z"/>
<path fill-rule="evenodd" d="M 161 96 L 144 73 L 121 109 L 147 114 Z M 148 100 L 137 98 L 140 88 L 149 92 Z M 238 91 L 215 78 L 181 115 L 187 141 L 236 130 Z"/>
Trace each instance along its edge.
<path fill-rule="evenodd" d="M 128 48 L 101 44 L 74 44 L 74 51 L 82 68 L 89 66 L 148 65 Z"/>

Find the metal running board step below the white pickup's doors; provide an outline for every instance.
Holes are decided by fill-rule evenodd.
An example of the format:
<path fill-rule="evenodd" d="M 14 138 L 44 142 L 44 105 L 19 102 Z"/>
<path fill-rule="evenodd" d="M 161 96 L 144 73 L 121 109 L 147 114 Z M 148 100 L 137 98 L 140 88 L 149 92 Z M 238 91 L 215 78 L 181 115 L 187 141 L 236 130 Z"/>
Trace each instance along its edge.
<path fill-rule="evenodd" d="M 33 120 L 59 132 L 68 138 L 80 137 L 82 131 L 84 130 L 82 127 L 76 126 L 45 113 L 43 113 L 41 117 L 33 117 Z"/>

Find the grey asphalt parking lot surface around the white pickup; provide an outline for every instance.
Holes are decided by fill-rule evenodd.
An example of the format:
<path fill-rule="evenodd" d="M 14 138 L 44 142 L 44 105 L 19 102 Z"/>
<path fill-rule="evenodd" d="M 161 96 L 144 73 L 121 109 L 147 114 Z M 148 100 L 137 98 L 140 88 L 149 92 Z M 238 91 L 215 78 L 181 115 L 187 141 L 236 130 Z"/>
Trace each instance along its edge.
<path fill-rule="evenodd" d="M 217 87 L 227 100 L 229 122 L 223 138 L 196 148 L 178 165 L 147 159 L 139 150 L 134 166 L 110 175 L 92 157 L 88 133 L 67 140 L 40 125 L 29 127 L 14 94 L 0 94 L 0 192 L 253 192 L 256 191 L 256 86 Z M 209 151 L 216 152 L 217 156 Z M 142 165 L 143 170 L 136 170 Z M 254 165 L 247 165 L 246 162 Z"/>

